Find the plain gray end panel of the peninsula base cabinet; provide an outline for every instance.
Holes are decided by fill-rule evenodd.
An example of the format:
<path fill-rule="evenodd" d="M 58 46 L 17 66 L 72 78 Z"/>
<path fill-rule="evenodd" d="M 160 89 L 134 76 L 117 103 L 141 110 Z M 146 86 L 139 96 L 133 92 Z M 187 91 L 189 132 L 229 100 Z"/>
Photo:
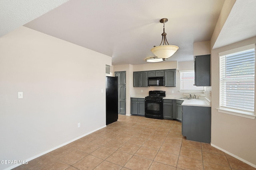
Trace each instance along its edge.
<path fill-rule="evenodd" d="M 183 106 L 182 135 L 188 140 L 211 142 L 211 107 Z"/>

